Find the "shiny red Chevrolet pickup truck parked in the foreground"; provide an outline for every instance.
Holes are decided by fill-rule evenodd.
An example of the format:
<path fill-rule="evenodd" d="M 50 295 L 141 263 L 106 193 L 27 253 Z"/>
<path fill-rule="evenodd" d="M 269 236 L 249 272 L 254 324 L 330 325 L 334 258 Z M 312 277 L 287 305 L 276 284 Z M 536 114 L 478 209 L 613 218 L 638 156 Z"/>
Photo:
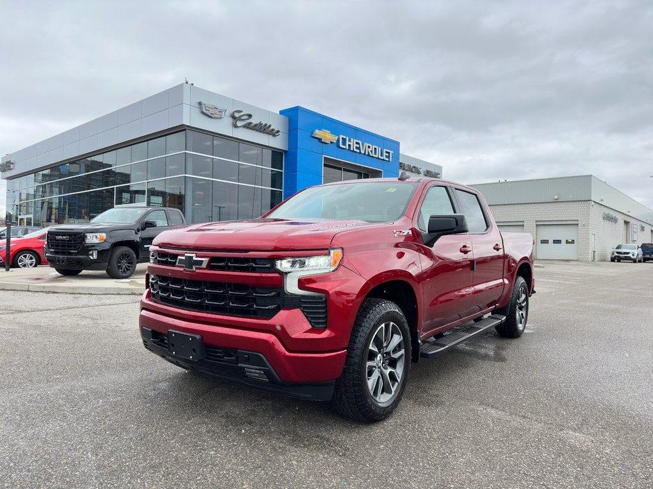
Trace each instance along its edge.
<path fill-rule="evenodd" d="M 192 225 L 150 248 L 140 332 L 176 366 L 386 418 L 411 361 L 490 327 L 524 332 L 533 239 L 474 189 L 433 178 L 305 189 L 262 218 Z"/>

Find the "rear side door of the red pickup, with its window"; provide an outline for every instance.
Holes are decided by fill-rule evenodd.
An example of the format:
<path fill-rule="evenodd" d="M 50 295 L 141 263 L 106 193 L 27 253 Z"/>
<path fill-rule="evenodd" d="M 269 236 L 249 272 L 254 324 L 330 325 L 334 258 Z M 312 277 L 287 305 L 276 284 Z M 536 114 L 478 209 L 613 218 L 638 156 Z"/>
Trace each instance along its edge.
<path fill-rule="evenodd" d="M 504 249 L 499 230 L 492 225 L 477 194 L 454 189 L 461 214 L 470 228 L 468 237 L 474 248 L 474 312 L 493 307 L 504 291 Z"/>

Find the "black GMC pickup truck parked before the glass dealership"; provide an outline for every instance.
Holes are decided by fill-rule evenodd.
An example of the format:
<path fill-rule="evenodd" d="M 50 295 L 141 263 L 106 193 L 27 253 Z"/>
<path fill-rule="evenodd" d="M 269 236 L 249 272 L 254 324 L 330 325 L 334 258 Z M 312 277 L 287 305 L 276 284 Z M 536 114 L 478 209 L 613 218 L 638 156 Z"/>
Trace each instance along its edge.
<path fill-rule="evenodd" d="M 106 270 L 113 278 L 131 277 L 137 263 L 149 260 L 149 247 L 161 232 L 185 225 L 179 209 L 116 206 L 86 224 L 50 228 L 44 253 L 61 275 Z"/>

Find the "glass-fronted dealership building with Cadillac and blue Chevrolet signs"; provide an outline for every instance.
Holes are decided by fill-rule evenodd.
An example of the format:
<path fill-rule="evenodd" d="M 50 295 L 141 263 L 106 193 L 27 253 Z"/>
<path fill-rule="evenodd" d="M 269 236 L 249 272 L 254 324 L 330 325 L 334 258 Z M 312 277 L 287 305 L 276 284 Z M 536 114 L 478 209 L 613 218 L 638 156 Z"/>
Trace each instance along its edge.
<path fill-rule="evenodd" d="M 189 223 L 252 218 L 311 185 L 402 169 L 442 174 L 395 139 L 182 83 L 2 157 L 0 176 L 12 221 L 47 226 L 129 203 L 176 207 Z"/>

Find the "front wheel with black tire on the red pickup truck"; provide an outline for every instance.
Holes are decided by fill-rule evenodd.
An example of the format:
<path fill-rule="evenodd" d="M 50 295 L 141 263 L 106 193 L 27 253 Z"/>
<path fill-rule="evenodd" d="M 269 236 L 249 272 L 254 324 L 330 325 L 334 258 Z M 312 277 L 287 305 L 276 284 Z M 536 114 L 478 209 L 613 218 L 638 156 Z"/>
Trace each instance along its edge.
<path fill-rule="evenodd" d="M 401 401 L 410 368 L 411 332 L 404 313 L 389 300 L 365 299 L 333 391 L 333 406 L 356 421 L 383 420 Z"/>

